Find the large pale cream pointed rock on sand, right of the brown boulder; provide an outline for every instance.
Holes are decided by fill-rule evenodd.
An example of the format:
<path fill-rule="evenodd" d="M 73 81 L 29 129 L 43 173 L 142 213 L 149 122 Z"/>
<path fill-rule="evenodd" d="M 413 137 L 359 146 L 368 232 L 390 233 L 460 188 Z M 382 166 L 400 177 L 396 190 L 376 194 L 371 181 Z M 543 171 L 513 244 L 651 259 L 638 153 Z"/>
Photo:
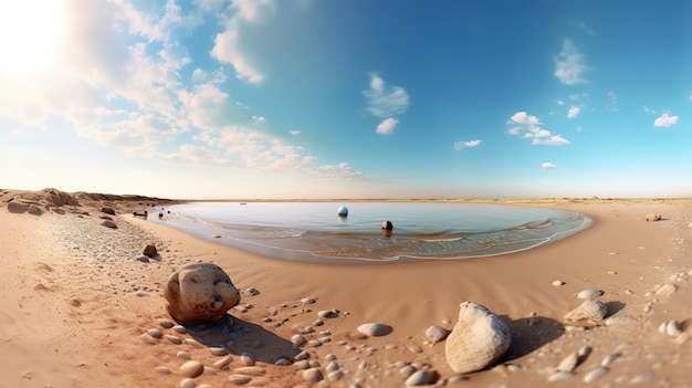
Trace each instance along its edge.
<path fill-rule="evenodd" d="M 447 364 L 458 374 L 480 370 L 499 360 L 510 348 L 510 329 L 485 306 L 463 302 L 459 321 L 447 337 Z"/>

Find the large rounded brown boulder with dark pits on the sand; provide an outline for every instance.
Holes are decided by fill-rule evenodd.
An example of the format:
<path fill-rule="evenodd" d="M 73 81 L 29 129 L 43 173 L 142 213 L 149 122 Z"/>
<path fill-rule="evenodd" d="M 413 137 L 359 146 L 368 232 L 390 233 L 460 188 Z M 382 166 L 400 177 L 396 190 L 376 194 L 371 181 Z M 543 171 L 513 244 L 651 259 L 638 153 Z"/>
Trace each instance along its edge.
<path fill-rule="evenodd" d="M 212 263 L 191 263 L 168 277 L 164 297 L 168 314 L 180 324 L 217 322 L 240 302 L 229 275 Z"/>

